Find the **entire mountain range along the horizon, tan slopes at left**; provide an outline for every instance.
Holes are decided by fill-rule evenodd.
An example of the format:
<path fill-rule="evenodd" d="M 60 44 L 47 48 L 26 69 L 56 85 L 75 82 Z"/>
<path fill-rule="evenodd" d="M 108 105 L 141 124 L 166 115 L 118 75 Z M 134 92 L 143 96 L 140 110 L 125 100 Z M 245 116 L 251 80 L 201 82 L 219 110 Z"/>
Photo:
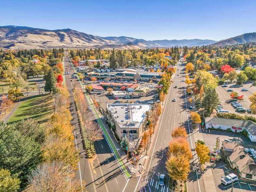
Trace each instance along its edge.
<path fill-rule="evenodd" d="M 98 48 L 140 49 L 151 47 L 225 45 L 256 40 L 256 33 L 248 33 L 228 40 L 144 40 L 132 37 L 99 37 L 72 29 L 47 30 L 26 26 L 0 26 L 0 47 L 10 49 L 42 48 Z"/>

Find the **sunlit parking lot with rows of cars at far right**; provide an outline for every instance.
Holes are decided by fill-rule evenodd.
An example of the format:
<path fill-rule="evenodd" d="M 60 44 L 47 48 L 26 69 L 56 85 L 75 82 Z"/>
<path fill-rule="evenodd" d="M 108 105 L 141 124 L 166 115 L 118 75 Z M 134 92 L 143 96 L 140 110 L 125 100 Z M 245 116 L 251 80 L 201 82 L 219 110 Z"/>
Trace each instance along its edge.
<path fill-rule="evenodd" d="M 244 95 L 243 100 L 238 102 L 240 102 L 240 104 L 243 105 L 243 107 L 245 107 L 246 109 L 249 109 L 249 106 L 250 106 L 249 96 L 251 96 L 252 93 L 256 91 L 256 87 L 253 85 L 253 83 L 246 82 L 243 85 L 236 85 L 235 83 L 225 84 L 225 85 L 227 85 L 228 87 L 221 87 L 221 85 L 219 85 L 216 88 L 216 92 L 219 95 L 220 104 L 222 104 L 223 109 L 228 110 L 230 113 L 236 113 L 239 115 L 248 114 L 247 112 L 239 113 L 235 108 L 233 108 L 233 106 L 229 102 L 229 99 L 231 99 L 231 96 L 230 96 L 231 91 L 228 92 L 227 90 L 231 89 L 237 92 L 238 96 Z M 248 89 L 248 91 L 241 91 L 242 88 Z M 253 114 L 253 116 L 256 116 L 256 115 Z"/>

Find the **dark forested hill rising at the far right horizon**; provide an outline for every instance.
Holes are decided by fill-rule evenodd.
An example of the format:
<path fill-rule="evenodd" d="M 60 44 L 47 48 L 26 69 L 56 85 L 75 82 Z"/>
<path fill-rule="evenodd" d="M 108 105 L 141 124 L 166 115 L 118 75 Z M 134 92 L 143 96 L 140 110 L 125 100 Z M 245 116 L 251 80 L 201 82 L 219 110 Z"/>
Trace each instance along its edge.
<path fill-rule="evenodd" d="M 219 42 L 213 43 L 215 46 L 225 46 L 225 45 L 234 45 L 234 44 L 243 44 L 256 41 L 256 33 L 245 33 L 236 37 L 232 37 L 226 40 L 221 40 Z"/>

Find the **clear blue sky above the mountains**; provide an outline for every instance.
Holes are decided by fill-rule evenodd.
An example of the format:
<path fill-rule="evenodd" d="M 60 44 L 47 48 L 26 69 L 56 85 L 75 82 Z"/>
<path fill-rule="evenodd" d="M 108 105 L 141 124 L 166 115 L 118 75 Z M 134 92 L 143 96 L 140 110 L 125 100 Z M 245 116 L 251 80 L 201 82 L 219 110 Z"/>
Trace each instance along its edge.
<path fill-rule="evenodd" d="M 107 37 L 222 40 L 256 32 L 255 0 L 13 0 L 0 25 L 71 28 Z"/>

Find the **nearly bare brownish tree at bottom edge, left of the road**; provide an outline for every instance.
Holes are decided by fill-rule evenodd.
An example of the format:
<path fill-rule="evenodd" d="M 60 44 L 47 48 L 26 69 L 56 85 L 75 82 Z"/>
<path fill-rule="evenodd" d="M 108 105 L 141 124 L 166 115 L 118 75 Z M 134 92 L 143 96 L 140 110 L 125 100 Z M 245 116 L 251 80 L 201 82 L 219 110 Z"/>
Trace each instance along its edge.
<path fill-rule="evenodd" d="M 24 192 L 80 192 L 84 189 L 85 182 L 74 179 L 74 174 L 62 162 L 43 163 L 31 172 Z"/>

